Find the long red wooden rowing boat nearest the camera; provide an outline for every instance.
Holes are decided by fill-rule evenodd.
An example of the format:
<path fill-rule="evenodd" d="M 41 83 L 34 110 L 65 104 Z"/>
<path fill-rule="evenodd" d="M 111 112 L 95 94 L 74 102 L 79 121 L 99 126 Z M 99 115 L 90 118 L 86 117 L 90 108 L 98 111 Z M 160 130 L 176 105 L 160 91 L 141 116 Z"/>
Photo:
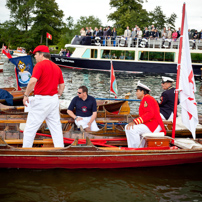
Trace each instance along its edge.
<path fill-rule="evenodd" d="M 43 143 L 45 142 L 48 141 L 43 141 Z M 86 138 L 86 140 L 76 139 L 65 148 L 21 148 L 10 146 L 1 138 L 0 167 L 31 169 L 134 168 L 202 162 L 201 139 L 192 141 L 191 147 L 188 143 L 180 144 L 178 139 L 172 144 L 171 139 L 168 138 L 147 137 L 147 142 L 147 147 L 136 149 L 119 147 L 119 145 L 117 145 L 118 147 L 99 147 L 94 146 L 96 141 Z M 156 145 L 161 146 L 153 146 L 152 142 L 157 142 Z M 164 143 L 165 146 L 163 146 Z"/>

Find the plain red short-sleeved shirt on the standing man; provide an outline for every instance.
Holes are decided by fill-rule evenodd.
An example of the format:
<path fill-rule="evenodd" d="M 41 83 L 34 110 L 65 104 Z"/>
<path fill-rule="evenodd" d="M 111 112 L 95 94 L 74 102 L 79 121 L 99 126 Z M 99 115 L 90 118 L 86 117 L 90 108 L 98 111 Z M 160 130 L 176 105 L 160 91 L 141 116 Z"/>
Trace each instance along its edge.
<path fill-rule="evenodd" d="M 35 95 L 55 95 L 58 85 L 64 83 L 61 69 L 50 60 L 37 63 L 32 77 L 38 80 L 34 88 Z"/>

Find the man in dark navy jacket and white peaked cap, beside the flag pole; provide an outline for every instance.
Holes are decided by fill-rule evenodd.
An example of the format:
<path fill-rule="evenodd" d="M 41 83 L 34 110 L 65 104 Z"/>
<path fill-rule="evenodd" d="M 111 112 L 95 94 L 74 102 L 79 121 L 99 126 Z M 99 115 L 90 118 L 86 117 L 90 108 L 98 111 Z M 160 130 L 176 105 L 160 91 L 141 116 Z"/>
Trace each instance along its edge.
<path fill-rule="evenodd" d="M 160 115 L 163 120 L 173 119 L 175 88 L 172 87 L 173 79 L 162 76 L 161 86 L 165 90 L 160 98 Z M 178 100 L 179 104 L 179 100 Z"/>

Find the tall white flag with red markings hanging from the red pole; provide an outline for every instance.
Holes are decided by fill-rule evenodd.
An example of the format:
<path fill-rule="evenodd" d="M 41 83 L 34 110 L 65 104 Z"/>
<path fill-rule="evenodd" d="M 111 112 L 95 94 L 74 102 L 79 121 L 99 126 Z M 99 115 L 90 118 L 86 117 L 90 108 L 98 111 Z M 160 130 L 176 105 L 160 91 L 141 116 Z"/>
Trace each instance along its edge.
<path fill-rule="evenodd" d="M 190 130 L 193 138 L 196 138 L 196 126 L 198 124 L 198 112 L 194 92 L 196 92 L 194 74 L 191 64 L 189 48 L 187 15 L 185 11 L 184 32 L 182 43 L 182 58 L 180 71 L 180 104 L 182 108 L 182 122 Z"/>

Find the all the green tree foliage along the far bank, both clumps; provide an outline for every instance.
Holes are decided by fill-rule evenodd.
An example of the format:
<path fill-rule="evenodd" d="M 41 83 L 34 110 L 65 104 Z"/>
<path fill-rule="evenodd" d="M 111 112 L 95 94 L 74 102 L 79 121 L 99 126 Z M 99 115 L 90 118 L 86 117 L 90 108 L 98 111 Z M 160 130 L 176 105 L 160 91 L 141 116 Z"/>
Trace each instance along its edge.
<path fill-rule="evenodd" d="M 167 18 L 158 6 L 148 13 L 142 8 L 143 2 L 110 0 L 110 6 L 116 11 L 108 15 L 108 20 L 114 22 L 118 35 L 122 35 L 127 26 L 131 29 L 138 25 L 142 30 L 151 24 L 158 29 L 165 25 L 174 27 L 176 14 Z M 6 7 L 10 10 L 11 21 L 0 24 L 0 44 L 13 49 L 25 47 L 27 52 L 39 44 L 46 44 L 46 32 L 53 39 L 48 40 L 48 44 L 56 45 L 59 52 L 75 35 L 80 35 L 82 27 L 103 27 L 101 20 L 94 16 L 81 16 L 76 22 L 69 16 L 63 22 L 63 11 L 55 0 L 6 0 Z"/>

